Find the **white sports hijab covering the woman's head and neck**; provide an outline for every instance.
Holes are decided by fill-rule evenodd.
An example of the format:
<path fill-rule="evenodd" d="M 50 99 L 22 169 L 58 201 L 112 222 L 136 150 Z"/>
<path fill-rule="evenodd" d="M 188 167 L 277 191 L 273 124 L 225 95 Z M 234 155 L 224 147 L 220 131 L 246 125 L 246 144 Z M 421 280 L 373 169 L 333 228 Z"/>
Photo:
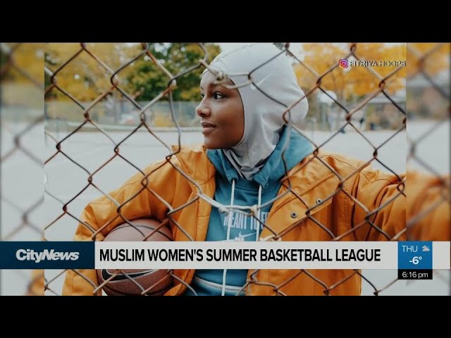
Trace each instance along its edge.
<path fill-rule="evenodd" d="M 271 60 L 274 56 L 277 57 Z M 259 67 L 266 61 L 269 62 Z M 304 92 L 297 84 L 290 58 L 273 44 L 250 44 L 223 52 L 211 61 L 210 67 L 222 70 L 237 85 L 249 82 L 249 73 L 259 67 L 252 72 L 252 82 L 273 98 L 268 98 L 254 84 L 238 87 L 245 111 L 245 132 L 240 142 L 223 152 L 238 174 L 251 180 L 276 149 L 285 123 L 283 113 L 301 99 Z M 208 71 L 206 68 L 204 74 Z M 307 98 L 294 106 L 290 110 L 292 123 L 304 119 L 308 108 Z"/>

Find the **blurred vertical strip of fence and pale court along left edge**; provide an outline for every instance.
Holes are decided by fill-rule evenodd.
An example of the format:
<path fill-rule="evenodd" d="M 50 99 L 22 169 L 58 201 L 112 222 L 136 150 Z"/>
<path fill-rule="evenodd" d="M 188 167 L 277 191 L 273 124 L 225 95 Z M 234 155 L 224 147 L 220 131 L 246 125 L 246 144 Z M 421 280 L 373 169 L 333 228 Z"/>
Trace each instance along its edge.
<path fill-rule="evenodd" d="M 44 236 L 44 49 L 0 44 L 2 241 Z M 1 295 L 43 295 L 43 270 L 1 270 Z"/>

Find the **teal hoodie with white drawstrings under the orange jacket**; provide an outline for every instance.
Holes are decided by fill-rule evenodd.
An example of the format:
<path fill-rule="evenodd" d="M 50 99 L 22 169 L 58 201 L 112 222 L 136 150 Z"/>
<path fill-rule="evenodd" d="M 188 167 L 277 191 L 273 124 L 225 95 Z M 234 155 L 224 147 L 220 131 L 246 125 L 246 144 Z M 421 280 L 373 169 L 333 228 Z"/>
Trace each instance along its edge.
<path fill-rule="evenodd" d="M 252 177 L 245 180 L 238 176 L 233 165 L 228 161 L 221 149 L 207 151 L 207 156 L 216 168 L 216 191 L 214 199 L 223 205 L 230 205 L 232 195 L 232 182 L 235 180 L 233 192 L 233 204 L 238 206 L 253 206 L 258 204 L 259 186 L 261 185 L 261 203 L 264 204 L 276 197 L 280 189 L 280 179 L 285 175 L 285 166 L 282 159 L 282 151 L 290 134 L 290 141 L 285 151 L 284 158 L 287 165 L 286 171 L 292 169 L 297 163 L 311 154 L 313 148 L 309 140 L 302 137 L 295 130 L 283 127 L 276 149 L 266 160 L 263 168 Z M 261 208 L 260 219 L 266 222 L 271 205 Z M 249 211 L 247 211 L 249 212 Z M 230 241 L 256 241 L 257 226 L 259 232 L 263 230 L 254 217 L 242 213 L 231 212 Z M 228 228 L 228 216 L 220 213 L 218 208 L 212 207 L 209 227 L 206 233 L 206 241 L 226 241 Z M 197 270 L 191 287 L 199 296 L 221 296 L 224 270 Z M 226 271 L 226 296 L 236 295 L 245 284 L 247 270 Z M 188 288 L 186 295 L 192 295 Z M 244 294 L 244 292 L 242 293 Z"/>

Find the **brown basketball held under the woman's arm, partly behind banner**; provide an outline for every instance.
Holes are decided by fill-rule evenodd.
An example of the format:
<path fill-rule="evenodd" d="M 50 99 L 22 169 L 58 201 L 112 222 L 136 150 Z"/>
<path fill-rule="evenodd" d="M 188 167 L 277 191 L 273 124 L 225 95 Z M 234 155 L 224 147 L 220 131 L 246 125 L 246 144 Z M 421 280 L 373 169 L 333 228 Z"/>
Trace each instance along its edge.
<path fill-rule="evenodd" d="M 138 218 L 130 223 L 135 227 L 128 225 L 128 223 L 118 225 L 107 234 L 104 241 L 142 242 L 144 237 L 160 225 L 159 221 L 151 218 Z M 149 242 L 171 240 L 171 229 L 168 226 L 159 228 L 146 239 Z M 147 291 L 147 295 L 161 296 L 173 287 L 173 277 L 170 275 L 170 270 L 124 269 L 121 271 L 122 273 L 114 276 L 102 287 L 109 296 L 140 296 L 149 287 L 152 287 L 152 289 Z M 105 282 L 116 272 L 116 269 L 98 269 L 99 283 Z"/>

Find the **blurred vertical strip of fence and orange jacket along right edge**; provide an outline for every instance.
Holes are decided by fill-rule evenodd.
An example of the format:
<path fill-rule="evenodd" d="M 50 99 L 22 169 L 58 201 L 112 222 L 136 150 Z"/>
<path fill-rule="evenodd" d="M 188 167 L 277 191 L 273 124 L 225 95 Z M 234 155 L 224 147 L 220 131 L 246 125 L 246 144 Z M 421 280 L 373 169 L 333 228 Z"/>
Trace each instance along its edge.
<path fill-rule="evenodd" d="M 407 44 L 407 61 L 407 239 L 450 241 L 450 44 Z M 450 271 L 433 273 L 409 282 L 409 294 L 451 294 Z"/>

